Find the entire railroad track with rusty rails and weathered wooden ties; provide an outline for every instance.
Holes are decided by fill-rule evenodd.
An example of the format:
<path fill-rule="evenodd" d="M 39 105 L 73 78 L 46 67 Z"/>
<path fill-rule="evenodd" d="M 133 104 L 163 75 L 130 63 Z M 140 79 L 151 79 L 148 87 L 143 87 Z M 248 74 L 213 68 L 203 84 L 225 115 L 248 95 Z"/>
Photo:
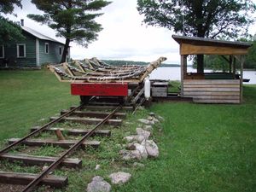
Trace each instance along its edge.
<path fill-rule="evenodd" d="M 67 177 L 57 177 L 49 173 L 53 172 L 57 166 L 66 167 L 81 167 L 82 161 L 79 159 L 68 158 L 77 148 L 97 148 L 100 145 L 98 141 L 88 140 L 93 136 L 111 135 L 109 130 L 99 130 L 102 125 L 119 126 L 122 119 L 125 119 L 125 113 L 120 113 L 120 109 L 133 110 L 131 106 L 123 106 L 119 103 L 103 103 L 99 104 L 90 101 L 87 105 L 80 105 L 79 107 L 71 107 L 69 110 L 62 110 L 60 117 L 51 117 L 49 123 L 43 126 L 32 127 L 31 133 L 23 138 L 9 139 L 9 145 L 0 151 L 0 160 L 8 160 L 9 162 L 21 161 L 28 166 L 42 166 L 49 165 L 38 174 L 28 174 L 22 172 L 0 172 L 0 183 L 20 184 L 25 185 L 21 191 L 33 191 L 38 185 L 44 184 L 55 188 L 62 188 L 67 184 Z M 106 110 L 106 111 L 105 111 Z M 104 112 L 102 112 L 104 111 Z M 57 123 L 68 121 L 73 123 L 80 123 L 86 125 L 93 125 L 90 130 L 74 129 L 74 128 L 60 128 L 54 127 Z M 63 137 L 61 132 L 79 139 L 52 139 L 44 138 L 38 139 L 40 134 L 44 132 L 55 132 L 58 137 Z M 82 136 L 82 137 L 81 137 Z M 9 153 L 17 146 L 58 146 L 66 148 L 64 152 L 58 157 L 36 156 L 30 154 Z"/>

